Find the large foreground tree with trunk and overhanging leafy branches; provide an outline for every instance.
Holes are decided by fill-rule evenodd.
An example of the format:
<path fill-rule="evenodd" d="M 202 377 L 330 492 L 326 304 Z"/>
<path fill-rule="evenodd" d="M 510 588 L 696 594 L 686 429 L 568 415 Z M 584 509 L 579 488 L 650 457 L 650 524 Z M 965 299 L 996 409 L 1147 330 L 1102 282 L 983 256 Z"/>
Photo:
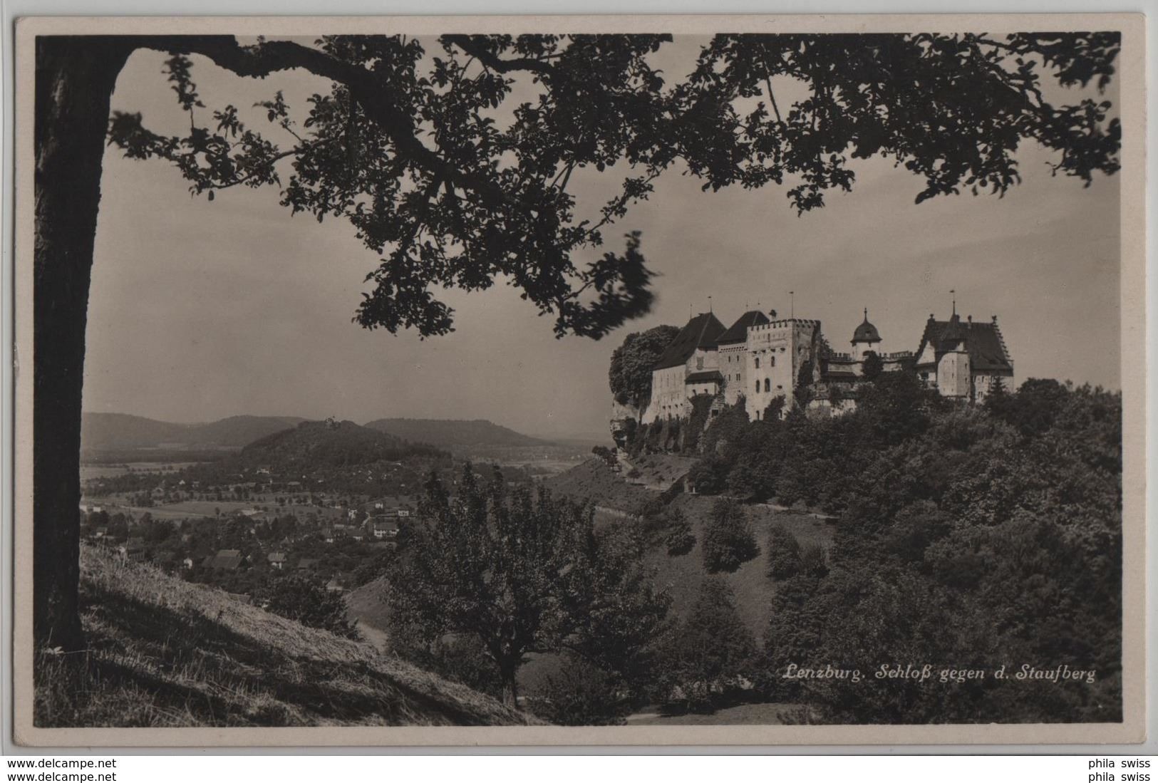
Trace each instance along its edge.
<path fill-rule="evenodd" d="M 195 195 L 277 185 L 294 212 L 349 220 L 381 257 L 354 320 L 423 335 L 453 325 L 435 287 L 483 290 L 499 276 L 554 316 L 560 336 L 598 338 L 646 313 L 651 272 L 638 235 L 629 234 L 622 253 L 600 248 L 603 232 L 673 168 L 710 190 L 789 180 L 790 202 L 802 212 L 821 206 L 830 189 L 850 189 L 850 159 L 870 155 L 917 175 L 918 202 L 962 188 L 1004 192 L 1019 180 L 1013 153 L 1024 139 L 1057 153 L 1055 173 L 1087 183 L 1094 171 L 1119 167 L 1111 105 L 1055 104 L 1042 89 L 1048 82 L 1104 88 L 1121 45 L 1115 32 L 720 35 L 676 81 L 652 65 L 670 41 L 37 37 L 37 641 L 82 645 L 81 382 L 105 141 L 130 158 L 174 163 Z M 168 54 L 164 74 L 189 114 L 188 134 L 160 136 L 134 112 L 110 118 L 117 75 L 138 50 Z M 305 108 L 270 95 L 262 105 L 276 141 L 243 126 L 233 105 L 201 105 L 192 71 L 205 61 L 240 78 L 308 72 L 331 87 Z M 778 79 L 798 82 L 805 97 L 778 102 Z M 516 92 L 515 82 L 530 97 L 518 97 L 527 90 Z M 580 214 L 567 190 L 572 175 L 609 168 L 615 193 Z"/>

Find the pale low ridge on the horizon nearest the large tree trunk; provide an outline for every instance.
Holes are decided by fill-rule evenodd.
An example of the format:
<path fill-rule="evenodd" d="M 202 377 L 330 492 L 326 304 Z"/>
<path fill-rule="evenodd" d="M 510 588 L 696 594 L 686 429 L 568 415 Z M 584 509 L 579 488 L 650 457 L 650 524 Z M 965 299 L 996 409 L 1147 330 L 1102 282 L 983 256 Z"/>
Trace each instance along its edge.
<path fill-rule="evenodd" d="M 296 416 L 230 416 L 203 424 L 159 422 L 129 414 L 85 414 L 81 419 L 81 448 L 111 451 L 131 448 L 241 448 L 242 446 L 296 426 Z"/>

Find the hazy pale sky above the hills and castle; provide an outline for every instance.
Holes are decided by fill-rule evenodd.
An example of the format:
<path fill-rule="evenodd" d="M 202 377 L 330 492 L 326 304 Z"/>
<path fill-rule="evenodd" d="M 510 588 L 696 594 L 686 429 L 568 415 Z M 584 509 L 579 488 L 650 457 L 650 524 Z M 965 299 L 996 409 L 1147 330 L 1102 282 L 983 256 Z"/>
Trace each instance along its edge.
<path fill-rule="evenodd" d="M 687 71 L 696 41 L 662 50 L 668 73 Z M 163 56 L 138 52 L 113 109 L 141 111 L 148 127 L 188 127 L 161 73 Z M 328 92 L 310 75 L 244 80 L 195 58 L 205 103 L 245 109 L 284 89 L 291 105 Z M 787 98 L 791 100 L 791 87 Z M 1109 95 L 1115 100 L 1116 95 Z M 201 110 L 207 111 L 207 110 Z M 285 141 L 285 139 L 278 139 Z M 952 196 L 914 203 L 922 182 L 891 161 L 855 161 L 850 193 L 798 217 L 786 188 L 702 192 L 669 171 L 650 200 L 604 236 L 643 232 L 658 301 L 602 341 L 556 339 L 550 317 L 498 285 L 447 292 L 455 331 L 367 331 L 351 321 L 378 264 L 349 224 L 291 217 L 278 189 L 191 197 L 161 161 L 104 155 L 88 314 L 85 410 L 205 422 L 239 414 L 486 418 L 528 434 L 602 437 L 611 351 L 632 331 L 709 309 L 731 324 L 746 308 L 819 319 L 848 350 L 868 308 L 885 351 L 915 351 L 930 314 L 998 317 L 1017 382 L 1069 379 L 1120 387 L 1120 193 L 1116 176 L 1054 177 L 1031 142 L 1023 183 L 1003 198 Z M 577 181 L 580 203 L 602 178 Z M 585 200 L 586 199 L 586 200 Z M 580 258 L 580 261 L 582 261 Z M 789 292 L 793 291 L 794 302 Z M 709 297 L 711 300 L 709 301 Z"/>

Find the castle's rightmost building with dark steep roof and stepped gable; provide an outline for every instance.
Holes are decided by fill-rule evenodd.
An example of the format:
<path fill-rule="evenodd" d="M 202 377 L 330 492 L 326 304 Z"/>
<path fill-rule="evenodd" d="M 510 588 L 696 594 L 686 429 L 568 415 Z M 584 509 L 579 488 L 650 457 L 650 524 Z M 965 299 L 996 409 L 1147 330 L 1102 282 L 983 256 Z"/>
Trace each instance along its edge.
<path fill-rule="evenodd" d="M 955 307 L 948 321 L 929 314 L 914 368 L 943 396 L 969 402 L 983 402 L 998 385 L 1014 386 L 1013 359 L 997 316 L 984 323 L 969 315 L 962 322 Z"/>

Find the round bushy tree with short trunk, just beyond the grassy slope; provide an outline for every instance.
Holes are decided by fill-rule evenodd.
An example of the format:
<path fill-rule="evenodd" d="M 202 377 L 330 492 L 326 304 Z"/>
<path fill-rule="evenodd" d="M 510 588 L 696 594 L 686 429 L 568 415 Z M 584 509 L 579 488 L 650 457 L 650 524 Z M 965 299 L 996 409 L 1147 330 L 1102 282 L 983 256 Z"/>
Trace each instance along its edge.
<path fill-rule="evenodd" d="M 508 496 L 498 469 L 483 485 L 467 464 L 455 489 L 431 476 L 389 571 L 391 627 L 411 647 L 475 639 L 512 705 L 529 653 L 572 651 L 629 687 L 646 676 L 669 600 L 638 537 L 596 534 L 589 508 L 545 490 Z"/>

